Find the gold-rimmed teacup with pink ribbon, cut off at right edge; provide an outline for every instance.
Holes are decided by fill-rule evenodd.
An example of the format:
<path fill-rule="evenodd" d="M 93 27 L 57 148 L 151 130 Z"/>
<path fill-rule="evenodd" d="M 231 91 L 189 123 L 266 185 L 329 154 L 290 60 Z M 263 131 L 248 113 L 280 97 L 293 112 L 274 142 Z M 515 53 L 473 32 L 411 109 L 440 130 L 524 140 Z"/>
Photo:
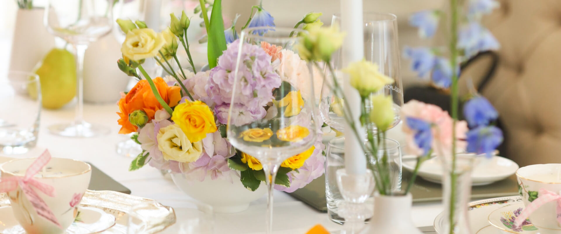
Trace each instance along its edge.
<path fill-rule="evenodd" d="M 534 164 L 521 167 L 516 171 L 516 177 L 518 192 L 526 207 L 539 198 L 540 189 L 555 194 L 561 192 L 561 164 Z M 557 200 L 537 208 L 530 214 L 530 221 L 540 229 L 540 233 L 561 233 L 561 224 L 557 221 Z"/>

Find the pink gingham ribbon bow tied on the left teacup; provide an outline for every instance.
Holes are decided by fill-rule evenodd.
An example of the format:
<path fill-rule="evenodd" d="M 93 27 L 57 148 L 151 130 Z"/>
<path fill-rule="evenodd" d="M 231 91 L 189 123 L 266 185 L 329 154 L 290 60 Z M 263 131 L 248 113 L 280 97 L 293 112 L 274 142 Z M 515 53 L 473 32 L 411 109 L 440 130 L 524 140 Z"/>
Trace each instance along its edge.
<path fill-rule="evenodd" d="M 24 192 L 24 195 L 26 196 L 27 200 L 29 200 L 31 205 L 33 205 L 33 208 L 35 208 L 37 214 L 47 219 L 48 221 L 52 222 L 57 227 L 62 228 L 61 224 L 58 223 L 57 218 L 54 216 L 52 210 L 50 210 L 47 204 L 45 204 L 45 201 L 41 199 L 37 194 L 37 192 L 35 192 L 35 190 L 33 190 L 32 188 L 35 187 L 36 190 L 43 192 L 47 196 L 50 197 L 55 196 L 53 186 L 39 182 L 33 178 L 33 176 L 35 176 L 36 173 L 41 171 L 41 169 L 45 165 L 47 165 L 49 160 L 50 160 L 49 150 L 45 150 L 45 152 L 43 152 L 43 154 L 41 154 L 41 156 L 39 156 L 39 158 L 37 158 L 35 162 L 33 162 L 31 166 L 27 168 L 27 171 L 25 172 L 25 176 L 23 177 L 11 176 L 11 177 L 1 178 L 0 192 L 14 191 L 17 189 L 17 186 L 19 185 L 21 187 L 21 190 Z"/>

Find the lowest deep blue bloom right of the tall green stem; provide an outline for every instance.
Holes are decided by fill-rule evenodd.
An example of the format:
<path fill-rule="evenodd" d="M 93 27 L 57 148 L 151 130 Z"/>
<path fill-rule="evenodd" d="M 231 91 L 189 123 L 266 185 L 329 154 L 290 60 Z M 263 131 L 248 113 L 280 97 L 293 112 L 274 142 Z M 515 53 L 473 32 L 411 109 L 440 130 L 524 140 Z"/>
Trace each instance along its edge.
<path fill-rule="evenodd" d="M 495 126 L 479 126 L 467 132 L 467 152 L 486 154 L 491 153 L 503 142 L 503 132 Z"/>

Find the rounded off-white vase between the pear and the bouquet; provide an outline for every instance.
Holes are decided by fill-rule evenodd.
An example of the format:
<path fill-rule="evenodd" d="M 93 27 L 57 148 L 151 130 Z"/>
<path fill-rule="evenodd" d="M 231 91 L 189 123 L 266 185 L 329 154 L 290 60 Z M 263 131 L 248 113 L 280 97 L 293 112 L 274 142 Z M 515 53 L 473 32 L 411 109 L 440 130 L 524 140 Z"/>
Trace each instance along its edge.
<path fill-rule="evenodd" d="M 121 56 L 121 44 L 113 34 L 90 44 L 84 57 L 85 102 L 114 103 L 121 98 L 119 92 L 127 91 L 131 77 L 117 66 L 117 59 Z"/>

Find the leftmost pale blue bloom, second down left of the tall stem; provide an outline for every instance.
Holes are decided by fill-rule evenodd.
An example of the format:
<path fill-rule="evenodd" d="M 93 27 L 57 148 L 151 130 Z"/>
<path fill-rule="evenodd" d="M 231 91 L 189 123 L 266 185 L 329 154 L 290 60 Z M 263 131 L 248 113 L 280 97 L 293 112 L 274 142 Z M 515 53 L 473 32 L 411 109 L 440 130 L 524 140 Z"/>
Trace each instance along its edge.
<path fill-rule="evenodd" d="M 403 56 L 411 59 L 411 70 L 417 72 L 419 77 L 425 77 L 435 65 L 436 56 L 434 53 L 425 47 L 411 48 L 405 47 Z"/>

